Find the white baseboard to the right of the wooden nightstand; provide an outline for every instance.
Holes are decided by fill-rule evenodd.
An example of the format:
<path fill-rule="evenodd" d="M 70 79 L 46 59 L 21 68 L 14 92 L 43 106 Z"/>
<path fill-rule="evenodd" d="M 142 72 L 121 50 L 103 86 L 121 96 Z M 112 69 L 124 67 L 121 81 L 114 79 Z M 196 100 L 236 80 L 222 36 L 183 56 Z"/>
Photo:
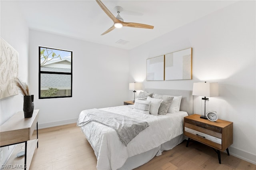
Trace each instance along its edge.
<path fill-rule="evenodd" d="M 246 160 L 252 164 L 256 165 L 256 155 L 245 152 L 243 150 L 233 148 L 233 147 L 228 147 L 228 151 L 231 155 L 236 156 L 242 160 Z"/>

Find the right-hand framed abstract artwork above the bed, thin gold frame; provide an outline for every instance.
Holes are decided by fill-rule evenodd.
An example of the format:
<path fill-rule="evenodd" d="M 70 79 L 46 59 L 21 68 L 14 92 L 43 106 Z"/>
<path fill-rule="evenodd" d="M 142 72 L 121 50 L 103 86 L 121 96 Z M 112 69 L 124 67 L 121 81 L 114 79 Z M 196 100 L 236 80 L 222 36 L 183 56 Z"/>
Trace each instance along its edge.
<path fill-rule="evenodd" d="M 192 48 L 165 55 L 165 80 L 192 79 Z"/>

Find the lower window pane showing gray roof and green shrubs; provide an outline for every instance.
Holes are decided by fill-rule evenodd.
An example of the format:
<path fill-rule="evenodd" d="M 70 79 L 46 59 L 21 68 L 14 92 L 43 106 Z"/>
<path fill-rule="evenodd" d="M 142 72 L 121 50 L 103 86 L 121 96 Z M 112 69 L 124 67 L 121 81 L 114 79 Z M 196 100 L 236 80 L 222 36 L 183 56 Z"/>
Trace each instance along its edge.
<path fill-rule="evenodd" d="M 40 97 L 71 96 L 71 75 L 41 73 L 40 83 Z"/>

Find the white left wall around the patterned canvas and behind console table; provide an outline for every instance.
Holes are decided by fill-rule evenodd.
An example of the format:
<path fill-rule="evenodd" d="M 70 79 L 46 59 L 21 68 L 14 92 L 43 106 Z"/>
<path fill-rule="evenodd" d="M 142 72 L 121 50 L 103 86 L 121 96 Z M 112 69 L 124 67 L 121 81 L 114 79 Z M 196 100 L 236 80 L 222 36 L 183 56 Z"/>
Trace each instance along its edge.
<path fill-rule="evenodd" d="M 13 1 L 0 1 L 1 30 L 0 36 L 19 53 L 18 76 L 28 82 L 28 26 L 20 9 Z M 2 125 L 17 111 L 23 108 L 23 96 L 16 95 L 0 100 L 0 124 Z M 5 162 L 13 146 L 1 148 Z"/>

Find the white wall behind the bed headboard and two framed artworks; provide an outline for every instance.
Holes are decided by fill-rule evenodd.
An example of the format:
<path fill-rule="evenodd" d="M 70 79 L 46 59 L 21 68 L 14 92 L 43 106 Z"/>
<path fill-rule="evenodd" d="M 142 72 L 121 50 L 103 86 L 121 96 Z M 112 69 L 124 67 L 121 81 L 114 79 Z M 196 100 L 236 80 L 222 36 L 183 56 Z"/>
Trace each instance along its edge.
<path fill-rule="evenodd" d="M 192 90 L 194 82 L 218 82 L 219 97 L 206 110 L 234 123 L 230 153 L 256 164 L 255 1 L 241 1 L 130 50 L 130 81 L 144 88 Z M 193 48 L 192 80 L 145 81 L 146 59 Z M 132 94 L 129 94 L 132 97 Z M 194 97 L 194 113 L 201 99 Z"/>

